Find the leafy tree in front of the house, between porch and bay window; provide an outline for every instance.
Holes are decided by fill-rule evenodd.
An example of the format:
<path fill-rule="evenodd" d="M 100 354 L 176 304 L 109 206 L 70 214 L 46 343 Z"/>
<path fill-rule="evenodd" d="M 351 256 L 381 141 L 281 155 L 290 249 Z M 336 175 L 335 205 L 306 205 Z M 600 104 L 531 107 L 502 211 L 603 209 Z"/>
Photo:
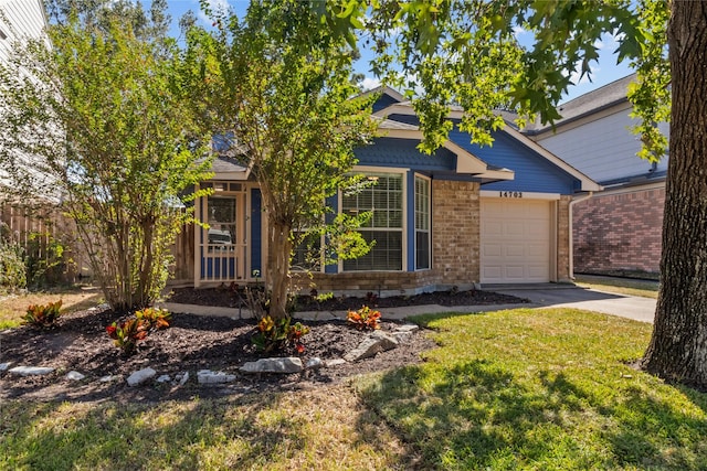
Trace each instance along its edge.
<path fill-rule="evenodd" d="M 270 315 L 287 315 L 293 249 L 306 235 L 367 249 L 357 218 L 327 214 L 338 191 L 355 191 L 354 148 L 376 129 L 371 98 L 356 97 L 356 51 L 331 34 L 306 2 L 251 1 L 240 19 L 210 12 L 214 30 L 189 34 L 200 88 L 196 108 L 221 133 L 220 147 L 252 169 L 267 217 Z M 327 224 L 330 223 L 330 224 Z M 327 231 L 325 226 L 328 226 Z M 342 247 L 339 247 L 342 248 Z"/>

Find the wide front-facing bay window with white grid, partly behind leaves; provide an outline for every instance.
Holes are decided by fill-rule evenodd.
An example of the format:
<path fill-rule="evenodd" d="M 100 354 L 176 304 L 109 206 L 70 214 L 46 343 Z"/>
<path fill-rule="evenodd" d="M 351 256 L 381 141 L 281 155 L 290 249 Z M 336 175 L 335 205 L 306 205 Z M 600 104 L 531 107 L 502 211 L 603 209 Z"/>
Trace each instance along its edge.
<path fill-rule="evenodd" d="M 358 194 L 344 195 L 341 211 L 347 214 L 371 212 L 359 232 L 367 242 L 376 240 L 362 257 L 344 260 L 345 271 L 402 270 L 403 179 L 400 173 L 371 173 L 376 184 Z"/>

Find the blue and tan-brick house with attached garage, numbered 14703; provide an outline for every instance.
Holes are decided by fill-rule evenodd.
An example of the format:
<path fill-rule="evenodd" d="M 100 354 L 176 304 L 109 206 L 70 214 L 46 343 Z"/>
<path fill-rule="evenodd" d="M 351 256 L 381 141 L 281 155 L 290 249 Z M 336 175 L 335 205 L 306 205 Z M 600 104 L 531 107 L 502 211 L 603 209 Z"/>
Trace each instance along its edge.
<path fill-rule="evenodd" d="M 511 126 L 494 132 L 493 147 L 472 144 L 456 129 L 433 156 L 422 153 L 410 103 L 379 92 L 379 133 L 356 149 L 354 169 L 377 184 L 331 201 L 339 212 L 371 211 L 360 232 L 376 244 L 302 278 L 300 288 L 387 296 L 571 280 L 571 203 L 599 184 Z M 213 194 L 194 203 L 209 228 L 197 227 L 177 247 L 177 279 L 196 287 L 262 280 L 266 217 L 257 184 L 228 158 L 217 159 L 214 172 L 202 184 Z"/>

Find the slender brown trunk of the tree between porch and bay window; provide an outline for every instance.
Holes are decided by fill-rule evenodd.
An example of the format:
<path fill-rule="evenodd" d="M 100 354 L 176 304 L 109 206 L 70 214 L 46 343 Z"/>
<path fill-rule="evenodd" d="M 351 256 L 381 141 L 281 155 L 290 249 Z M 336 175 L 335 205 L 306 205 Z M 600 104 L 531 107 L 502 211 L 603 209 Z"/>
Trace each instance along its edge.
<path fill-rule="evenodd" d="M 284 319 L 287 317 L 287 287 L 289 285 L 289 257 L 292 255 L 291 227 L 271 218 L 268 231 L 270 315 L 273 319 Z"/>

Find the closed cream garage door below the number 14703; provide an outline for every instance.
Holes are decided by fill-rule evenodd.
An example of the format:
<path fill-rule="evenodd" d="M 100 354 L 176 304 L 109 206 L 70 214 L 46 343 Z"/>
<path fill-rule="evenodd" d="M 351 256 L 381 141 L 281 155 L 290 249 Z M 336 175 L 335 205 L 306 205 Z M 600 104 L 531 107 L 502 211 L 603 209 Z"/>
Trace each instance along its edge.
<path fill-rule="evenodd" d="M 550 202 L 481 200 L 482 282 L 550 281 Z"/>

